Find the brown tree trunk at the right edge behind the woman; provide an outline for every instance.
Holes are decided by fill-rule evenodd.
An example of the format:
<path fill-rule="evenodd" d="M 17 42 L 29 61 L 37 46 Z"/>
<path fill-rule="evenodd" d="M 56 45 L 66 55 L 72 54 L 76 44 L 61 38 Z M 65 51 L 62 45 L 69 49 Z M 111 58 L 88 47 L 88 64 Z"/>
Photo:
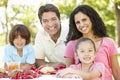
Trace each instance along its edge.
<path fill-rule="evenodd" d="M 116 16 L 116 41 L 118 47 L 120 47 L 120 2 L 114 4 L 115 16 Z"/>

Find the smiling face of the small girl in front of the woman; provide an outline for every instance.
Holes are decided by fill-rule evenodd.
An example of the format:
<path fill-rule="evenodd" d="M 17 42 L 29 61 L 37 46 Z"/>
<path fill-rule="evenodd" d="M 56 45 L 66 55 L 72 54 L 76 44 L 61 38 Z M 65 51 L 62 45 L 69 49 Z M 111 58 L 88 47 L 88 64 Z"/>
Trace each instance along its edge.
<path fill-rule="evenodd" d="M 95 49 L 93 43 L 90 41 L 80 42 L 76 54 L 78 55 L 81 63 L 92 63 L 95 57 Z"/>

